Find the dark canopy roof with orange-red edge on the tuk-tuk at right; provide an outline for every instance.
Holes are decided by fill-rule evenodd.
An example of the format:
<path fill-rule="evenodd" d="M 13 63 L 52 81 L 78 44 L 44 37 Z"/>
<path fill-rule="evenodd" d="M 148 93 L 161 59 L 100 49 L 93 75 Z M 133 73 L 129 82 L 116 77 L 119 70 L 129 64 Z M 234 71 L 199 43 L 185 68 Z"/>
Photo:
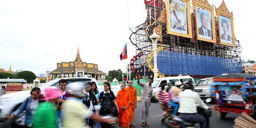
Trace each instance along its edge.
<path fill-rule="evenodd" d="M 253 74 L 221 74 L 215 76 L 213 81 L 245 81 L 255 80 L 256 75 Z"/>

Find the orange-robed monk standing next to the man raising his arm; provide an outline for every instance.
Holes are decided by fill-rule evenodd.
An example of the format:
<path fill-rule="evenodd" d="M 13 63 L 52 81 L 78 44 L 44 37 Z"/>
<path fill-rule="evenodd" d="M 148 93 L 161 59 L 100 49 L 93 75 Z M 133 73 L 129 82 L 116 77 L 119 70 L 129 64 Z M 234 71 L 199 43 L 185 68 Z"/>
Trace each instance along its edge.
<path fill-rule="evenodd" d="M 128 90 L 130 92 L 130 95 L 131 95 L 131 101 L 130 101 L 130 105 L 129 105 L 130 126 L 135 126 L 135 124 L 132 124 L 132 121 L 133 121 L 133 117 L 134 117 L 135 108 L 137 108 L 137 90 L 136 90 L 135 87 L 132 87 L 132 83 L 133 83 L 132 80 L 128 81 L 129 86 L 126 88 L 126 90 Z"/>

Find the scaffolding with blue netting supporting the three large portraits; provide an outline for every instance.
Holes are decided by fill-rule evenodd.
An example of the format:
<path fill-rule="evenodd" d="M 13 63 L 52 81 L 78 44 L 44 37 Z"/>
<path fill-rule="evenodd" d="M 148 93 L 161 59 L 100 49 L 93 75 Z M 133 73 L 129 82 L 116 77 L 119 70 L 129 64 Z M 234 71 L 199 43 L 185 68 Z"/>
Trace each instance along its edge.
<path fill-rule="evenodd" d="M 141 76 L 152 77 L 154 73 L 151 66 L 146 63 L 152 54 L 152 41 L 149 38 L 153 29 L 161 26 L 162 40 L 157 45 L 162 48 L 157 55 L 158 71 L 160 77 L 178 76 L 179 73 L 189 74 L 193 78 L 206 78 L 220 73 L 240 73 L 242 47 L 239 40 L 235 40 L 235 47 L 219 44 L 218 28 L 215 27 L 217 43 L 196 40 L 195 15 L 191 6 L 192 39 L 167 34 L 166 22 L 157 20 L 165 8 L 165 3 L 158 0 L 158 4 L 147 4 L 147 19 L 143 24 L 130 28 L 131 43 L 136 47 L 136 55 L 131 60 L 134 73 Z M 192 4 L 192 3 L 191 3 Z M 215 16 L 215 26 L 217 17 Z M 152 24 L 154 23 L 154 24 Z M 148 33 L 147 33 L 148 32 Z M 154 60 L 151 60 L 152 63 Z M 159 77 L 159 76 L 158 76 Z"/>

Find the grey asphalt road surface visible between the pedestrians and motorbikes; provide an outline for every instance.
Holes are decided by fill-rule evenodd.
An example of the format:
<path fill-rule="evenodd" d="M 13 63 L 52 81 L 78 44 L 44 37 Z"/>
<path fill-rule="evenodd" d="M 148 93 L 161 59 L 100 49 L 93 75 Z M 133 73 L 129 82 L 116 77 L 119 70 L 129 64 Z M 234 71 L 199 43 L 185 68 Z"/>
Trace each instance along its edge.
<path fill-rule="evenodd" d="M 137 108 L 135 109 L 134 121 L 135 127 L 130 128 L 141 128 L 141 102 L 137 102 Z M 210 108 L 213 109 L 213 106 L 216 104 L 207 104 Z M 148 124 L 150 126 L 148 128 L 166 128 L 165 124 L 161 124 L 162 119 L 162 110 L 159 107 L 157 102 L 151 102 L 150 110 L 149 110 L 149 117 L 148 117 Z M 212 117 L 210 117 L 210 127 L 211 128 L 232 128 L 234 126 L 234 119 L 239 114 L 228 114 L 226 115 L 225 119 L 221 119 L 217 117 L 217 111 L 213 110 Z M 147 127 L 146 127 L 147 128 Z"/>

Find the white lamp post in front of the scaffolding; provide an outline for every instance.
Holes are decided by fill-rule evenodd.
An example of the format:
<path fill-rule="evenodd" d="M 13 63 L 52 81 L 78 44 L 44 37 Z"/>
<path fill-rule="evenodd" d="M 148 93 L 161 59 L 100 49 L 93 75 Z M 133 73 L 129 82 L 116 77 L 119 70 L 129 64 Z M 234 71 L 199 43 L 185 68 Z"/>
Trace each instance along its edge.
<path fill-rule="evenodd" d="M 159 39 L 159 35 L 156 34 L 156 32 L 154 31 L 153 35 L 150 36 L 150 39 L 153 42 L 153 50 L 154 50 L 154 78 L 157 78 L 157 73 L 158 73 L 158 69 L 157 69 L 157 61 L 156 61 L 156 43 Z"/>

